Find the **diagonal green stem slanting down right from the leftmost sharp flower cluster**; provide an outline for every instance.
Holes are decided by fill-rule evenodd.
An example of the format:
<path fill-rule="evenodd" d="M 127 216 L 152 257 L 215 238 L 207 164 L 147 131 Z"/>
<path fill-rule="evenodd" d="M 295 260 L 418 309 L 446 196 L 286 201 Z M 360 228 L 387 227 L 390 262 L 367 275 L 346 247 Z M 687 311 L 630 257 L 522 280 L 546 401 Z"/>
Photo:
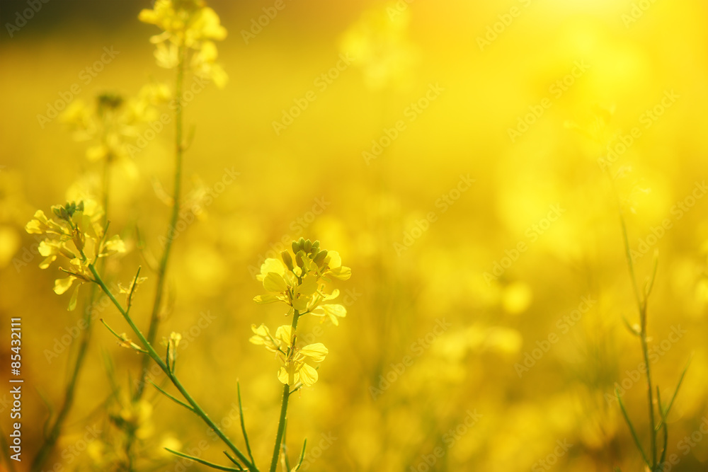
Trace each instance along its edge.
<path fill-rule="evenodd" d="M 137 338 L 140 340 L 140 343 L 142 343 L 143 347 L 145 350 L 147 350 L 147 355 L 152 358 L 152 360 L 160 367 L 162 372 L 166 374 L 166 376 L 170 379 L 172 384 L 177 388 L 179 393 L 183 396 L 183 398 L 189 403 L 189 405 L 194 409 L 195 415 L 197 415 L 203 422 L 207 424 L 214 432 L 217 434 L 219 439 L 221 439 L 224 444 L 226 444 L 229 449 L 234 451 L 234 454 L 236 454 L 236 457 L 239 458 L 241 462 L 243 462 L 246 467 L 249 469 L 251 472 L 258 472 L 258 468 L 256 468 L 255 464 L 253 464 L 249 459 L 244 456 L 244 454 L 239 450 L 238 447 L 234 443 L 231 442 L 231 440 L 222 432 L 222 430 L 219 429 L 219 427 L 216 425 L 215 422 L 209 418 L 209 415 L 205 413 L 204 410 L 200 407 L 200 405 L 190 396 L 188 391 L 184 388 L 184 386 L 181 384 L 181 382 L 177 379 L 175 374 L 170 372 L 170 370 L 167 367 L 167 364 L 161 359 L 160 355 L 155 351 L 154 347 L 152 347 L 152 344 L 148 343 L 147 339 L 145 336 L 142 334 L 142 332 L 135 326 L 135 323 L 132 321 L 132 318 L 130 318 L 130 313 L 125 311 L 121 304 L 118 302 L 118 300 L 115 299 L 113 296 L 113 293 L 110 292 L 110 289 L 105 286 L 105 283 L 101 279 L 101 276 L 98 275 L 98 272 L 96 272 L 96 267 L 93 267 L 93 264 L 89 265 L 89 269 L 91 270 L 91 274 L 93 274 L 94 277 L 94 282 L 98 284 L 99 287 L 101 287 L 101 290 L 103 290 L 103 293 L 106 294 L 106 296 L 110 299 L 111 302 L 113 302 L 113 305 L 118 309 L 122 317 L 125 319 L 125 321 L 128 323 L 128 326 L 130 326 L 130 329 L 135 333 Z"/>

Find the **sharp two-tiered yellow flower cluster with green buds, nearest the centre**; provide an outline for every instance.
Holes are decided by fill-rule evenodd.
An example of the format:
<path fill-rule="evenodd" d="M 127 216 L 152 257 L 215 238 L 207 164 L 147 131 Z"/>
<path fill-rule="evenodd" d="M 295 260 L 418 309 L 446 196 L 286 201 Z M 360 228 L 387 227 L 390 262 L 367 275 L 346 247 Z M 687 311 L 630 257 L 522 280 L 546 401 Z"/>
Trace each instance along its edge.
<path fill-rule="evenodd" d="M 322 343 L 295 345 L 297 318 L 312 314 L 322 317 L 323 321 L 329 318 L 337 326 L 338 318 L 346 316 L 346 308 L 326 303 L 336 299 L 339 291 L 335 289 L 327 294 L 322 282 L 348 280 L 351 269 L 342 265 L 336 251 L 320 249 L 319 241 L 312 243 L 309 239 L 293 241 L 292 254 L 282 251 L 280 256 L 280 259 L 266 259 L 261 266 L 261 274 L 256 277 L 263 282 L 268 294 L 258 295 L 253 300 L 259 304 L 278 301 L 286 304 L 290 307 L 287 314 L 293 316 L 292 326 L 280 326 L 273 336 L 267 326 L 253 325 L 254 335 L 250 341 L 276 353 L 281 363 L 278 379 L 283 384 L 311 386 L 317 381 L 317 364 L 324 361 L 329 351 Z"/>

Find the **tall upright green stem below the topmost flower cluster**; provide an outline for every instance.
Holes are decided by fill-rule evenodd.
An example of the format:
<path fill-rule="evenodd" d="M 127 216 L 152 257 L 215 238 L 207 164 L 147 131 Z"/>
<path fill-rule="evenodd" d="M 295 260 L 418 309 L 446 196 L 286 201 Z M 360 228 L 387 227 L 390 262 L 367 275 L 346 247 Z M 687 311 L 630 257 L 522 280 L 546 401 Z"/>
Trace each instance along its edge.
<path fill-rule="evenodd" d="M 150 314 L 150 325 L 147 330 L 147 342 L 152 344 L 155 341 L 157 335 L 157 328 L 159 326 L 159 314 L 162 306 L 162 297 L 164 296 L 165 280 L 167 273 L 167 263 L 170 257 L 170 250 L 172 248 L 173 232 L 175 231 L 177 220 L 179 219 L 179 209 L 180 209 L 180 198 L 182 190 L 182 156 L 184 152 L 184 147 L 182 143 L 182 84 L 184 81 L 184 59 L 185 59 L 185 47 L 181 46 L 178 51 L 179 62 L 177 64 L 177 79 L 175 85 L 175 174 L 174 174 L 174 195 L 172 201 L 172 214 L 170 217 L 170 223 L 167 227 L 165 235 L 165 248 L 162 253 L 162 259 L 160 260 L 160 265 L 157 270 L 157 287 L 155 289 L 155 299 L 152 304 L 152 313 Z M 135 392 L 134 400 L 138 400 L 142 397 L 142 393 L 145 388 L 145 378 L 147 377 L 149 359 L 143 357 L 142 362 L 142 374 L 140 376 L 139 384 L 137 385 L 137 391 Z"/>

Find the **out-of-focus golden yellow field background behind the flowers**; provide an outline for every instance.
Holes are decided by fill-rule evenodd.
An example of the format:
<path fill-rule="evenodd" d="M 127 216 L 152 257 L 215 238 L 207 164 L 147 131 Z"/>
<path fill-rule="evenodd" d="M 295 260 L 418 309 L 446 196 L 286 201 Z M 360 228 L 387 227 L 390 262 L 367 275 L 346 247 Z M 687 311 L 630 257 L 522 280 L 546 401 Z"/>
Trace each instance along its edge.
<path fill-rule="evenodd" d="M 307 470 L 642 470 L 615 398 L 617 386 L 648 448 L 641 348 L 623 321 L 639 318 L 621 208 L 640 283 L 658 250 L 648 329 L 665 404 L 692 356 L 665 471 L 708 470 L 708 5 L 244 3 L 210 2 L 229 31 L 218 44 L 229 81 L 188 98 L 184 180 L 188 195 L 212 200 L 175 241 L 160 335 L 183 333 L 183 383 L 234 438 L 240 380 L 261 468 L 281 388 L 248 338 L 251 323 L 277 326 L 282 311 L 253 303 L 254 275 L 304 236 L 353 272 L 338 285 L 340 326 L 301 328 L 329 347 L 317 384 L 290 403 L 291 456 L 309 438 Z M 23 226 L 66 201 L 80 175 L 100 178 L 57 114 L 173 81 L 154 62 L 156 28 L 137 21 L 147 1 L 40 5 L 19 27 L 27 2 L 4 1 L 0 31 L 0 352 L 9 359 L 9 318 L 21 316 L 25 461 L 40 444 L 42 398 L 62 400 L 83 307 L 67 312 L 69 295 L 52 292 L 57 265 L 38 268 Z M 110 183 L 110 228 L 130 250 L 112 267 L 124 283 L 146 265 L 135 227 L 157 255 L 168 221 L 155 188 L 171 192 L 173 126 L 148 129 Z M 143 327 L 147 275 L 133 309 Z M 127 330 L 115 309 L 101 318 Z M 111 428 L 104 357 L 122 384 L 139 373 L 139 357 L 96 323 L 46 470 L 100 461 Z M 153 454 L 205 439 L 202 455 L 224 459 L 188 412 L 154 390 L 147 398 Z M 103 432 L 78 450 L 86 427 Z"/>

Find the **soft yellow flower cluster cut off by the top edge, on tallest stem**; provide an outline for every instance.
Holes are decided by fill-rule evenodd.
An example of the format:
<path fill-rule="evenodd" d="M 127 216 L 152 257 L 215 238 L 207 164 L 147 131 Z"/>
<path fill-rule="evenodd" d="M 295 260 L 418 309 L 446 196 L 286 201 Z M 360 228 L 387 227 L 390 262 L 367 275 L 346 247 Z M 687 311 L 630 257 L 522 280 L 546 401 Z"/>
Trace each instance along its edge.
<path fill-rule="evenodd" d="M 155 58 L 160 67 L 173 69 L 180 62 L 180 52 L 192 52 L 188 62 L 191 71 L 210 79 L 222 88 L 227 75 L 216 63 L 215 40 L 226 38 L 227 30 L 217 13 L 202 0 L 156 0 L 152 10 L 140 12 L 139 20 L 156 25 L 163 33 L 150 38 L 156 45 Z"/>

